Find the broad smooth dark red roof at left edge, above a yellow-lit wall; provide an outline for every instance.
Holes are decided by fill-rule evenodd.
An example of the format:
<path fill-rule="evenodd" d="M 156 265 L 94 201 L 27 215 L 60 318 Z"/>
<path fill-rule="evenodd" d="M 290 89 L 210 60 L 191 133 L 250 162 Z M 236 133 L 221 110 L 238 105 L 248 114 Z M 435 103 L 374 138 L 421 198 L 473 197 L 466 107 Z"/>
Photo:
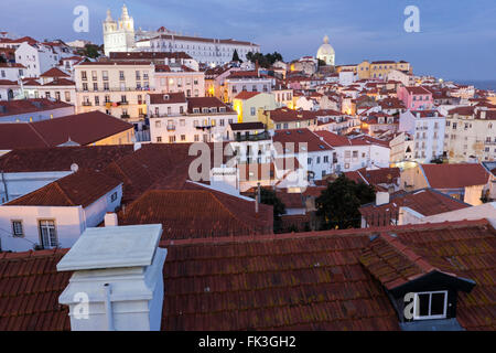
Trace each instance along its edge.
<path fill-rule="evenodd" d="M 85 146 L 130 129 L 131 124 L 97 110 L 36 122 L 1 124 L 0 149 L 56 147 L 69 140 Z"/>

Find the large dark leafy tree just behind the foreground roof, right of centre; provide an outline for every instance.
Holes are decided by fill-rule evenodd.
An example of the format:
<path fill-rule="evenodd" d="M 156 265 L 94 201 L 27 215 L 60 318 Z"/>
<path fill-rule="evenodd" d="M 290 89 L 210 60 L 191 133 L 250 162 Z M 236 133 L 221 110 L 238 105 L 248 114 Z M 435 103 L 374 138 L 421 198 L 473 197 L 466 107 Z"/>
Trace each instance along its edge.
<path fill-rule="evenodd" d="M 316 199 L 317 216 L 323 218 L 325 229 L 358 228 L 362 223 L 358 208 L 375 197 L 374 186 L 356 183 L 341 174 Z"/>

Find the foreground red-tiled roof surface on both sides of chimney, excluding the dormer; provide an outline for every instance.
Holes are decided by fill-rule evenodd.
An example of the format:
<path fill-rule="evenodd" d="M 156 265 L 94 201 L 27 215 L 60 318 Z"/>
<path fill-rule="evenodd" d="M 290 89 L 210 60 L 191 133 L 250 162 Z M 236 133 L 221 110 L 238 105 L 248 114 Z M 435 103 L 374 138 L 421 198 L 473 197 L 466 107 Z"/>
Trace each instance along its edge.
<path fill-rule="evenodd" d="M 369 236 L 397 238 L 459 292 L 467 330 L 496 330 L 496 232 L 485 220 L 165 242 L 162 330 L 398 330 L 386 292 L 359 261 Z M 173 243 L 173 244 L 171 244 Z M 0 254 L 0 330 L 68 330 L 58 296 L 65 250 Z"/>

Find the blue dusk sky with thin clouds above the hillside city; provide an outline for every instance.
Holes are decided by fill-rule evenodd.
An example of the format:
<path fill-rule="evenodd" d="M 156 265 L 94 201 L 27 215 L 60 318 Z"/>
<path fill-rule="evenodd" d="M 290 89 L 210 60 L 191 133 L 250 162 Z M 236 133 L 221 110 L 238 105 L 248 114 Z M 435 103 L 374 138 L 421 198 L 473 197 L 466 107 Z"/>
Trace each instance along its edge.
<path fill-rule="evenodd" d="M 37 40 L 103 43 L 107 8 L 122 0 L 1 0 L 0 30 Z M 73 31 L 73 9 L 89 9 L 89 32 Z M 406 60 L 416 74 L 445 79 L 496 79 L 496 1 L 450 0 L 128 0 L 136 28 L 161 25 L 207 38 L 252 41 L 285 61 L 315 55 L 327 34 L 336 64 Z M 420 33 L 407 33 L 403 10 L 420 9 Z"/>

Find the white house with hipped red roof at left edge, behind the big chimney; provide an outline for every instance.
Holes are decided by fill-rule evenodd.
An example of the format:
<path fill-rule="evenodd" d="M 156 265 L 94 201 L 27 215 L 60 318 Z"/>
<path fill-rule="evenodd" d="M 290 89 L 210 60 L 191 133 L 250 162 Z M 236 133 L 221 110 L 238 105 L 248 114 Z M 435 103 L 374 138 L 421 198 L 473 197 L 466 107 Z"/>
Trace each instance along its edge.
<path fill-rule="evenodd" d="M 78 171 L 0 206 L 1 249 L 67 248 L 96 227 L 122 199 L 122 183 L 103 173 Z"/>

